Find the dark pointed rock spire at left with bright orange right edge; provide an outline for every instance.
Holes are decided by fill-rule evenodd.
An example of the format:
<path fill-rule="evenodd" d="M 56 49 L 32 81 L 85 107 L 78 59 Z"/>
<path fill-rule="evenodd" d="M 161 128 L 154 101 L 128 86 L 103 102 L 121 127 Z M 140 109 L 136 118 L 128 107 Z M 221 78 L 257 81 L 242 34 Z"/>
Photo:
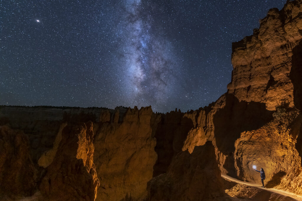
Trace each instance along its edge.
<path fill-rule="evenodd" d="M 92 122 L 67 124 L 40 184 L 50 200 L 95 200 L 99 181 L 93 162 Z"/>

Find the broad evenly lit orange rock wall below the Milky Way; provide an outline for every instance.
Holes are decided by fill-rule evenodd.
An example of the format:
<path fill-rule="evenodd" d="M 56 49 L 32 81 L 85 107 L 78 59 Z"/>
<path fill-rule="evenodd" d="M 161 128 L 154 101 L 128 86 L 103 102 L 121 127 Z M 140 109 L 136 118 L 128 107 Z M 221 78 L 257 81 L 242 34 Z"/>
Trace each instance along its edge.
<path fill-rule="evenodd" d="M 159 120 L 151 107 L 116 108 L 113 122 L 108 113 L 102 117 L 95 124 L 94 162 L 101 183 L 97 198 L 142 200 L 157 159 L 153 130 Z"/>

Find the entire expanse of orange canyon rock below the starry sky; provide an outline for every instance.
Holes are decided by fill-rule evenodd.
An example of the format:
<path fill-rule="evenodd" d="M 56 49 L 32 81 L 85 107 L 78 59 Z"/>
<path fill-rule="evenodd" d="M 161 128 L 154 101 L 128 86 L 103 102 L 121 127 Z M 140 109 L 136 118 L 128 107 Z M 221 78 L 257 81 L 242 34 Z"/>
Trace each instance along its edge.
<path fill-rule="evenodd" d="M 233 43 L 227 93 L 204 108 L 0 106 L 0 199 L 232 200 L 220 174 L 260 184 L 252 165 L 302 195 L 301 4 Z"/>

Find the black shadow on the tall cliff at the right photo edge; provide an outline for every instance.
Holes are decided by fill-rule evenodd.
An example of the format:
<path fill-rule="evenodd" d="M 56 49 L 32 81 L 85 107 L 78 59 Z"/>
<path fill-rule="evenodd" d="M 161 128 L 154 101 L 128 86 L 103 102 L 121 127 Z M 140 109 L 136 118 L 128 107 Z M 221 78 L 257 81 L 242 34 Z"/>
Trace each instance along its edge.
<path fill-rule="evenodd" d="M 294 105 L 302 110 L 302 41 L 293 48 L 290 78 L 294 85 Z"/>

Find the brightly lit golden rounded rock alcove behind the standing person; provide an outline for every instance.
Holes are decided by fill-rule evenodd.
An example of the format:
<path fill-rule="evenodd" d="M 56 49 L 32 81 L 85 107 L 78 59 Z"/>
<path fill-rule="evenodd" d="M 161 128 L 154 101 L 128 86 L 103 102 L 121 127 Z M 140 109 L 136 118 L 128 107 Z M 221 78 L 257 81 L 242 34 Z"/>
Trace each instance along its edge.
<path fill-rule="evenodd" d="M 265 186 L 302 194 L 301 157 L 295 147 L 302 116 L 279 111 L 275 119 L 257 130 L 242 132 L 235 142 L 235 167 L 241 180 L 260 183 L 252 166 L 265 170 Z"/>

